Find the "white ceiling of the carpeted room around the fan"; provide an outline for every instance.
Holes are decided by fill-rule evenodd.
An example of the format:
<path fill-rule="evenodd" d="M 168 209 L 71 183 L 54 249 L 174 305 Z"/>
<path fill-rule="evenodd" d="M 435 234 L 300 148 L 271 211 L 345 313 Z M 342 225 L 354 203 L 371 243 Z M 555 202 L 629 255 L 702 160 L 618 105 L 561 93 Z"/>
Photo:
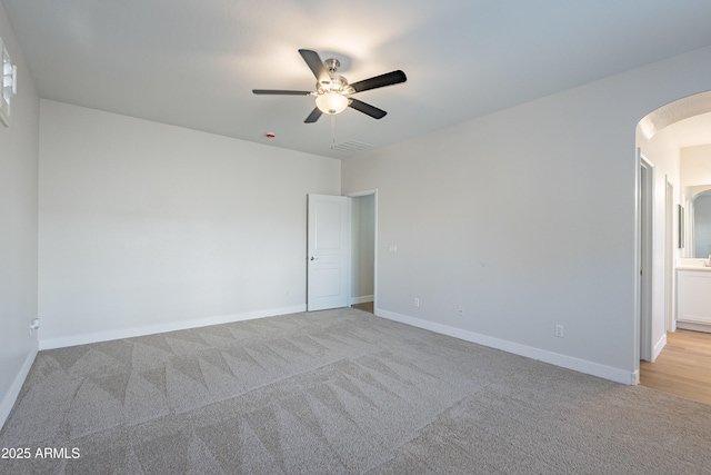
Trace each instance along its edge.
<path fill-rule="evenodd" d="M 711 44 L 705 0 L 2 3 L 42 98 L 336 158 L 312 98 L 251 93 L 313 89 L 299 48 L 351 82 L 407 73 L 357 96 L 383 119 L 334 121 L 336 144 L 382 147 Z"/>

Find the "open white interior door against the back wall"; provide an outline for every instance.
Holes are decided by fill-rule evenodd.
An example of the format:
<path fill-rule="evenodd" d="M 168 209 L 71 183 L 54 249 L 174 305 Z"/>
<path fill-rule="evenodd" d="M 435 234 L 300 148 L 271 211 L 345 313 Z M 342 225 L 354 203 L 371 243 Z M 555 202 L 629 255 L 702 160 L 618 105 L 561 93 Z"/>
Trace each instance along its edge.
<path fill-rule="evenodd" d="M 349 306 L 350 202 L 344 196 L 309 195 L 307 309 Z"/>

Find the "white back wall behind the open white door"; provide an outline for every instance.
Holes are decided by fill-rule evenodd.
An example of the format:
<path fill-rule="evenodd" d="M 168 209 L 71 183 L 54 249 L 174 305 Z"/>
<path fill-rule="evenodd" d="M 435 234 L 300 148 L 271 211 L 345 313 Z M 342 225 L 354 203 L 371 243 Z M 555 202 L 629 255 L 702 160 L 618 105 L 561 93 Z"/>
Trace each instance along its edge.
<path fill-rule="evenodd" d="M 40 346 L 306 308 L 340 161 L 42 100 Z"/>

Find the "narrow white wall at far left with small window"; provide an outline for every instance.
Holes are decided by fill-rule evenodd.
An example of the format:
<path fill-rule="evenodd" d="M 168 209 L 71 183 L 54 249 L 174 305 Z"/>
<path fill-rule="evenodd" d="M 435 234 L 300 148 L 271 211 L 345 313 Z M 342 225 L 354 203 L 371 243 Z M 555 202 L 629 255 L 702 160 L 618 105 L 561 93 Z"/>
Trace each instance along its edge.
<path fill-rule="evenodd" d="M 0 2 L 0 37 L 18 66 L 11 126 L 0 125 L 0 425 L 37 354 L 39 97 Z"/>

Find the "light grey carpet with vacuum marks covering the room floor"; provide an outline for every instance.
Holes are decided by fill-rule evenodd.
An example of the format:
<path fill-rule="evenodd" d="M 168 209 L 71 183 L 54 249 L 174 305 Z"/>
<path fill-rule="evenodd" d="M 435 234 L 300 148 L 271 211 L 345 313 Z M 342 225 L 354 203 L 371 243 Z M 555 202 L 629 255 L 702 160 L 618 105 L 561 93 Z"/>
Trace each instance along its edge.
<path fill-rule="evenodd" d="M 711 474 L 711 406 L 340 309 L 40 352 L 0 446 L 32 453 L 3 474 Z"/>

